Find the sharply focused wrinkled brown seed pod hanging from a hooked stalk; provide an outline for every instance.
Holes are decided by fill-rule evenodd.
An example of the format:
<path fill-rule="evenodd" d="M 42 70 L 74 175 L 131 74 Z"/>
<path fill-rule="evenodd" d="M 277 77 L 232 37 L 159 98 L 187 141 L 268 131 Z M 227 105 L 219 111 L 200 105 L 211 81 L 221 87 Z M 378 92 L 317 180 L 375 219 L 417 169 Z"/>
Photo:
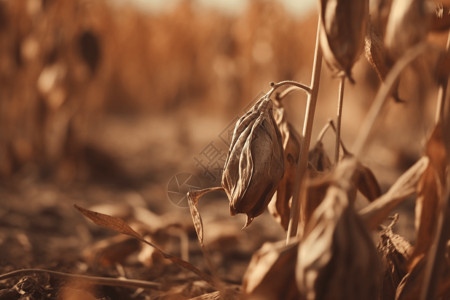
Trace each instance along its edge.
<path fill-rule="evenodd" d="M 236 123 L 222 175 L 230 213 L 247 214 L 247 227 L 266 209 L 284 174 L 281 134 L 272 100 L 261 98 Z"/>

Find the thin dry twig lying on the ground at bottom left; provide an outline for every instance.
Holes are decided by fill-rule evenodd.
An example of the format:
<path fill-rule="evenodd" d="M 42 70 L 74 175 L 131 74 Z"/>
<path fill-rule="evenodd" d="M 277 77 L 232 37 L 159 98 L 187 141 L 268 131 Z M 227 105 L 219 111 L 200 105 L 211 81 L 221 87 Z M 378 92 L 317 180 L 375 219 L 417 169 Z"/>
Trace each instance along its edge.
<path fill-rule="evenodd" d="M 135 279 L 125 279 L 125 278 L 109 278 L 109 277 L 98 277 L 98 276 L 88 276 L 79 274 L 70 274 L 58 271 L 51 271 L 45 269 L 21 269 L 5 273 L 0 275 L 0 281 L 17 276 L 29 276 L 32 274 L 49 274 L 56 278 L 63 280 L 76 280 L 85 282 L 90 285 L 104 285 L 104 286 L 118 286 L 127 288 L 143 288 L 143 289 L 158 289 L 161 287 L 160 283 L 145 281 L 145 280 L 135 280 Z"/>

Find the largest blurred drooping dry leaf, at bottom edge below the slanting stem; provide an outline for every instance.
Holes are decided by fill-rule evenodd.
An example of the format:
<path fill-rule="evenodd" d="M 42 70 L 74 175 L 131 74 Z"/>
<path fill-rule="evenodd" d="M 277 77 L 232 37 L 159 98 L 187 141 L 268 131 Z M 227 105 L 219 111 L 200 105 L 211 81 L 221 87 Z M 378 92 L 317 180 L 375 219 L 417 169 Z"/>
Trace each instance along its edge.
<path fill-rule="evenodd" d="M 339 164 L 342 176 L 328 188 L 300 241 L 296 276 L 306 299 L 377 299 L 376 248 L 349 197 L 356 168 L 353 158 Z"/>

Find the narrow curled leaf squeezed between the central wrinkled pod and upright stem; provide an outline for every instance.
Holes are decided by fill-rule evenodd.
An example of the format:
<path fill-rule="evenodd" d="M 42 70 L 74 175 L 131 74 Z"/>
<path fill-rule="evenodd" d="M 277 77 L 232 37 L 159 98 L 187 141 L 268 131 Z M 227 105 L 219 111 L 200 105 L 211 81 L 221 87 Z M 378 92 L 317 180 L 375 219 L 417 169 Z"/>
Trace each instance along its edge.
<path fill-rule="evenodd" d="M 281 224 L 284 230 L 289 226 L 290 202 L 295 185 L 295 172 L 301 147 L 301 136 L 286 120 L 283 107 L 274 110 L 275 122 L 281 132 L 284 150 L 284 175 L 277 192 L 268 205 L 269 212 Z"/>

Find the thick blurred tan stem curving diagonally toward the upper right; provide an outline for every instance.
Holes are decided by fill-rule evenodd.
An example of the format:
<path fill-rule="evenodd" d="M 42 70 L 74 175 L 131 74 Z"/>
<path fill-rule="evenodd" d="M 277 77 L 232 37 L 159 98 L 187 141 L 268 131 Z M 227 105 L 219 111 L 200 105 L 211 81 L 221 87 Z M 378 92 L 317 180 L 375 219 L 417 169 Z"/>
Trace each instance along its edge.
<path fill-rule="evenodd" d="M 420 43 L 410 50 L 408 50 L 405 55 L 403 55 L 391 69 L 389 74 L 386 77 L 384 83 L 382 83 L 380 89 L 378 90 L 377 95 L 375 96 L 375 100 L 373 101 L 372 106 L 370 107 L 369 112 L 367 113 L 366 119 L 364 120 L 361 130 L 359 131 L 359 135 L 356 138 L 354 144 L 355 157 L 360 158 L 361 152 L 369 138 L 370 132 L 372 130 L 375 121 L 383 108 L 384 103 L 390 96 L 394 84 L 397 78 L 400 76 L 401 72 L 411 63 L 413 62 L 420 54 L 422 54 L 426 49 L 429 49 L 428 45 L 424 43 Z"/>

